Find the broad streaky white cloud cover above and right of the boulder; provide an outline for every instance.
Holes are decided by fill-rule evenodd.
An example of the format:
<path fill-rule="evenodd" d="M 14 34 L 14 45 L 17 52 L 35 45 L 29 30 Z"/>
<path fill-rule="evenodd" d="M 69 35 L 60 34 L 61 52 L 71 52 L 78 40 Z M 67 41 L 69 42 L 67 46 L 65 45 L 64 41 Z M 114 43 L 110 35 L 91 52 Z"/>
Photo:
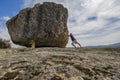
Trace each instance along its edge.
<path fill-rule="evenodd" d="M 36 3 L 46 1 L 67 7 L 68 29 L 82 45 L 120 41 L 120 0 L 24 0 L 23 7 L 33 7 Z M 95 20 L 88 20 L 93 16 Z"/>

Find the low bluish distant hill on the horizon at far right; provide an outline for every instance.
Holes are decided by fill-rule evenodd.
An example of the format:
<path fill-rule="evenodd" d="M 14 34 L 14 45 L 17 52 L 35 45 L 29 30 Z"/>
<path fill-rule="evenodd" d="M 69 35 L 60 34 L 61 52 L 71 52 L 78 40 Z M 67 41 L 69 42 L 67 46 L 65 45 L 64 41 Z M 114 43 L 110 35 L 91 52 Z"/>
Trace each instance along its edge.
<path fill-rule="evenodd" d="M 86 46 L 87 48 L 120 48 L 120 43 L 98 46 Z"/>

